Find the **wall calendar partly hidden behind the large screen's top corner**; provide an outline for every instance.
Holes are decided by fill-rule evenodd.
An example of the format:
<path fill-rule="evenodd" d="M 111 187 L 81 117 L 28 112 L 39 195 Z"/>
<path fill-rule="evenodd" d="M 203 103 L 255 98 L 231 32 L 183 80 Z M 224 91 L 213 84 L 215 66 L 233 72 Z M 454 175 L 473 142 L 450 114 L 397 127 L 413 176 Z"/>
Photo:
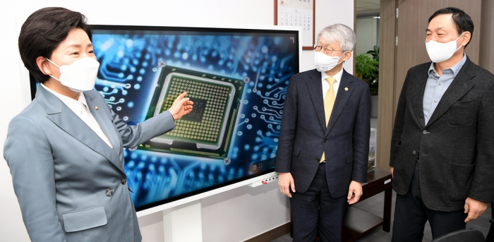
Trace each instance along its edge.
<path fill-rule="evenodd" d="M 300 26 L 302 49 L 314 49 L 315 0 L 275 0 L 275 25 Z"/>

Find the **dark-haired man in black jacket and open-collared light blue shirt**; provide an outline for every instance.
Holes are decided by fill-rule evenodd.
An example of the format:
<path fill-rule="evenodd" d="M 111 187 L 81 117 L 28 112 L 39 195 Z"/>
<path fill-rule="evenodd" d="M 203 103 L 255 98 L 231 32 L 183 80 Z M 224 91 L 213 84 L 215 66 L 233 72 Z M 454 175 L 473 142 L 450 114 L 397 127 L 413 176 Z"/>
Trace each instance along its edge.
<path fill-rule="evenodd" d="M 392 241 L 459 229 L 494 195 L 494 75 L 464 54 L 474 32 L 458 8 L 429 18 L 433 62 L 410 68 L 399 97 L 390 167 L 397 192 Z"/>

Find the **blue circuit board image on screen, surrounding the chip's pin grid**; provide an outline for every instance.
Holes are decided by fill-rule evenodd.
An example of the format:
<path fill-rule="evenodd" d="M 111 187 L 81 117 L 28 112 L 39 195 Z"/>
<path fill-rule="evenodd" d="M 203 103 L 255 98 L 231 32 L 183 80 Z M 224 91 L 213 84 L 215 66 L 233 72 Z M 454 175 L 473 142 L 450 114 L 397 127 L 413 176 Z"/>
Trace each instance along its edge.
<path fill-rule="evenodd" d="M 242 82 L 238 103 L 229 109 L 235 114 L 229 115 L 227 147 L 220 147 L 224 154 L 124 150 L 136 210 L 272 171 L 289 78 L 299 70 L 296 31 L 96 25 L 92 32 L 100 62 L 95 89 L 129 125 L 150 117 L 167 66 L 198 80 Z"/>

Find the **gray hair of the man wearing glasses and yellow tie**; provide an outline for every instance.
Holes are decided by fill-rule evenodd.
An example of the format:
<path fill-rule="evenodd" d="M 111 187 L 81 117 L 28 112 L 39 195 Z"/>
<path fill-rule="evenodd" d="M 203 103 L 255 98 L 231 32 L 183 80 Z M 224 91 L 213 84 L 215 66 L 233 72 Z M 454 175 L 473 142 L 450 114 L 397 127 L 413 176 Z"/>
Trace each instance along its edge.
<path fill-rule="evenodd" d="M 321 30 L 317 40 L 320 40 L 320 37 L 323 37 L 323 39 L 330 44 L 338 42 L 342 51 L 351 52 L 355 48 L 356 37 L 354 30 L 351 30 L 347 25 L 342 25 L 341 23 L 327 26 Z"/>

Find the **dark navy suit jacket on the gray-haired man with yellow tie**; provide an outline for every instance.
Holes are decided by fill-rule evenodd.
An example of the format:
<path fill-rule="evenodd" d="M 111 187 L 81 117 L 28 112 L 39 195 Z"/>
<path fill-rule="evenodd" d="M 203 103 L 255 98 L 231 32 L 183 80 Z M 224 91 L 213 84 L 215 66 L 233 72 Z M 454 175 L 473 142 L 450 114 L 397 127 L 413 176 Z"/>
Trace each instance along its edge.
<path fill-rule="evenodd" d="M 305 193 L 324 151 L 332 198 L 347 195 L 351 181 L 367 182 L 369 135 L 367 83 L 343 71 L 326 128 L 321 73 L 314 69 L 293 75 L 284 102 L 275 171 L 291 172 L 296 191 Z"/>

